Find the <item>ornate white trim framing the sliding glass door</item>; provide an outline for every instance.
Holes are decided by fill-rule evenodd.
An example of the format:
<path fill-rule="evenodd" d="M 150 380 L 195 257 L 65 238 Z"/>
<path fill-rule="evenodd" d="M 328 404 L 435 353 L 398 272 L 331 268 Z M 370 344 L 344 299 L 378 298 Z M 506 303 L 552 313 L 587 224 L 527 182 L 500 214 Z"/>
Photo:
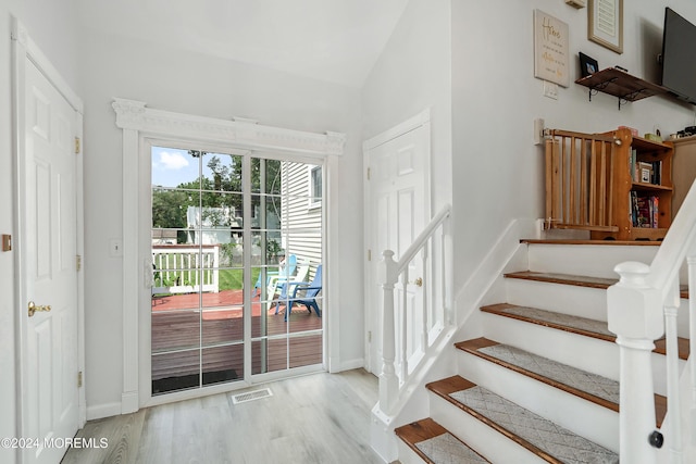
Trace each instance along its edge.
<path fill-rule="evenodd" d="M 264 153 L 283 155 L 300 155 L 309 158 L 327 158 L 327 179 L 332 166 L 336 166 L 335 158 L 343 155 L 346 135 L 327 131 L 325 134 L 293 130 L 258 124 L 250 120 L 224 121 L 206 116 L 175 113 L 147 108 L 142 101 L 115 98 L 112 108 L 116 113 L 116 126 L 123 129 L 123 392 L 121 413 L 137 411 L 140 406 L 152 402 L 145 398 L 142 379 L 139 379 L 141 353 L 139 343 L 139 309 L 141 296 L 149 291 L 151 266 L 148 258 L 139 252 L 140 229 L 139 218 L 140 188 L 133 188 L 133 180 L 137 185 L 147 185 L 149 178 L 144 179 L 146 161 L 141 160 L 147 138 L 172 139 L 184 142 L 198 142 L 215 147 L 232 149 L 260 150 Z M 150 162 L 148 159 L 147 162 Z M 334 183 L 336 186 L 338 183 Z M 335 215 L 331 214 L 332 189 L 327 191 L 326 235 L 332 236 L 338 229 L 334 226 Z M 327 259 L 338 253 L 338 241 L 326 240 Z M 328 265 L 328 262 L 326 262 Z M 327 273 L 326 294 L 332 301 L 334 292 L 338 291 L 338 273 Z M 328 303 L 326 303 L 328 304 Z M 338 324 L 327 317 L 326 337 L 328 339 L 328 368 L 334 369 L 336 362 L 332 359 L 338 355 Z M 140 340 L 142 341 L 142 340 Z M 215 387 L 209 389 L 213 392 Z M 228 387 L 217 387 L 228 388 Z M 183 396 L 196 396 L 198 392 L 172 393 L 172 401 L 183 399 Z"/>

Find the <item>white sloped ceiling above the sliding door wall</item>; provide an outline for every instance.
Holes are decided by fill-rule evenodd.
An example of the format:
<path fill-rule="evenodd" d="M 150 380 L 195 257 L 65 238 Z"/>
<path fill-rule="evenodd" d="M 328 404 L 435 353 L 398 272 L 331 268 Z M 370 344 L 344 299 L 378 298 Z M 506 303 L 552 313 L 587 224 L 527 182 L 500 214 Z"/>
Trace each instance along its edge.
<path fill-rule="evenodd" d="M 77 0 L 109 34 L 361 87 L 408 0 Z"/>

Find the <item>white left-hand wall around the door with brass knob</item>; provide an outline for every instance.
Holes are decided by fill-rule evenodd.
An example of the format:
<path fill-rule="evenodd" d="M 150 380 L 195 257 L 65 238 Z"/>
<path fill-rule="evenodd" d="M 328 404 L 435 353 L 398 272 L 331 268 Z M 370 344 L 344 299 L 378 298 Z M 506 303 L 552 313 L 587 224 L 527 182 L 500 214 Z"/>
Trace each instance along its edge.
<path fill-rule="evenodd" d="M 72 0 L 7 0 L 0 2 L 0 234 L 21 240 L 13 222 L 13 160 L 11 136 L 11 15 L 20 18 L 30 37 L 75 89 L 77 81 L 75 8 Z M 0 251 L 0 437 L 16 437 L 14 253 Z M 14 461 L 13 450 L 0 448 L 0 462 Z"/>

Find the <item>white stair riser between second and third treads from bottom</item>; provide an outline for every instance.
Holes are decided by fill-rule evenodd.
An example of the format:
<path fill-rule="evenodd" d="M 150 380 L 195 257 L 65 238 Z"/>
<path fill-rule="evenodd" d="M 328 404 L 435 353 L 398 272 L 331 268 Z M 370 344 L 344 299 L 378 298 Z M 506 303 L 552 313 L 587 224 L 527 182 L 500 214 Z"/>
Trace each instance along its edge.
<path fill-rule="evenodd" d="M 470 353 L 461 352 L 459 372 L 474 384 L 597 444 L 619 452 L 617 412 Z"/>

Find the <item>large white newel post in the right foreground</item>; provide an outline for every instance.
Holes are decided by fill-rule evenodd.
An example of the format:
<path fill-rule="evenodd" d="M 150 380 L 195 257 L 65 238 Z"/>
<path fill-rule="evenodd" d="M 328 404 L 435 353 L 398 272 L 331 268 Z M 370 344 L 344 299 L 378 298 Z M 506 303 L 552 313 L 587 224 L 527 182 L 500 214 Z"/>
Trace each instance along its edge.
<path fill-rule="evenodd" d="M 654 340 L 664 333 L 660 292 L 647 285 L 650 267 L 644 263 L 621 263 L 621 276 L 607 294 L 609 330 L 617 335 L 621 358 L 620 456 L 631 464 L 655 464 L 657 451 L 650 444 L 656 430 L 651 352 Z"/>

